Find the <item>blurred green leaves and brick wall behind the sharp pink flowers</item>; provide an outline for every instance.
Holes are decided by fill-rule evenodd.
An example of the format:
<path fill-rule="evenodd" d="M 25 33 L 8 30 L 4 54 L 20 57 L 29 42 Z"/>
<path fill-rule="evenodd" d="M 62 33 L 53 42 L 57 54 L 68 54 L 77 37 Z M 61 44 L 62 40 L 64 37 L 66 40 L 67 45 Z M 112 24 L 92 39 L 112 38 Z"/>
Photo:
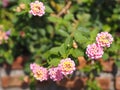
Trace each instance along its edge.
<path fill-rule="evenodd" d="M 120 0 L 0 0 L 0 90 L 120 90 Z M 99 32 L 114 38 L 94 65 L 85 54 Z M 36 81 L 30 63 L 46 68 L 72 57 L 77 70 L 60 82 Z"/>

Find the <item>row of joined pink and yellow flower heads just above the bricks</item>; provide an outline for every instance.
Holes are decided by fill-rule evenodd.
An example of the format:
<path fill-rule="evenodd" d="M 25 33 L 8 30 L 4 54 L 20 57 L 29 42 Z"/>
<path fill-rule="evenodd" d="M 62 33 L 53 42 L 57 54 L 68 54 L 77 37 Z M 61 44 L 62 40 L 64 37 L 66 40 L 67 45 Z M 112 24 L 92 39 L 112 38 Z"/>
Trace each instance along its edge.
<path fill-rule="evenodd" d="M 49 78 L 53 81 L 60 81 L 64 76 L 72 74 L 75 70 L 75 63 L 71 58 L 62 59 L 57 67 L 44 68 L 38 64 L 30 64 L 30 69 L 33 76 L 39 80 L 44 81 Z"/>

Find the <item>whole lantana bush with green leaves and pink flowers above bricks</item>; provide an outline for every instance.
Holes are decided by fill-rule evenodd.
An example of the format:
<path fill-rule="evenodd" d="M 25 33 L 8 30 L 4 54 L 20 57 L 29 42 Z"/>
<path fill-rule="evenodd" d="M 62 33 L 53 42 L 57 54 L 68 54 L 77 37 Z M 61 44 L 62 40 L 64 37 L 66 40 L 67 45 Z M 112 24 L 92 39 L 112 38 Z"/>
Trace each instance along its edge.
<path fill-rule="evenodd" d="M 33 90 L 36 81 L 60 82 L 76 71 L 87 75 L 86 90 L 100 90 L 101 60 L 120 66 L 119 8 L 119 0 L 1 0 L 0 63 L 28 56 Z"/>

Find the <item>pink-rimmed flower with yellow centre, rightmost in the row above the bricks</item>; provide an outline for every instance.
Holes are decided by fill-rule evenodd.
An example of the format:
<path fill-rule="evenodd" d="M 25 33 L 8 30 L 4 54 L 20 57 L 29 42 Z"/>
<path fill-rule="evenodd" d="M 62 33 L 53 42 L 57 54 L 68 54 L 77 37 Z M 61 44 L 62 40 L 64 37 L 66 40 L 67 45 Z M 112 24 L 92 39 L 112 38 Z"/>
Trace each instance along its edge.
<path fill-rule="evenodd" d="M 63 75 L 72 74 L 75 70 L 75 63 L 70 58 L 62 59 L 58 65 Z"/>

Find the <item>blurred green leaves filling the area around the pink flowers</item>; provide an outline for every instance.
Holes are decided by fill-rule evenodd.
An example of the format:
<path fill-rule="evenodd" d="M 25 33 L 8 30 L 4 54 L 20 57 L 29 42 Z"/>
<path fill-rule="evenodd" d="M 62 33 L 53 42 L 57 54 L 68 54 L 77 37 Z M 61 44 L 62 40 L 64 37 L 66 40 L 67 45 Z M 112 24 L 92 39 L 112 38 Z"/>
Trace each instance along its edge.
<path fill-rule="evenodd" d="M 86 47 L 101 31 L 114 37 L 103 58 L 120 59 L 119 0 L 40 0 L 46 7 L 42 17 L 29 14 L 32 1 L 9 0 L 6 7 L 0 1 L 0 25 L 4 31 L 11 30 L 8 42 L 0 45 L 0 63 L 12 64 L 15 57 L 29 55 L 28 63 L 48 68 L 67 57 L 73 58 L 77 65 L 79 56 L 88 60 Z M 20 4 L 25 4 L 25 8 L 20 9 Z M 25 70 L 30 72 L 28 63 Z"/>

